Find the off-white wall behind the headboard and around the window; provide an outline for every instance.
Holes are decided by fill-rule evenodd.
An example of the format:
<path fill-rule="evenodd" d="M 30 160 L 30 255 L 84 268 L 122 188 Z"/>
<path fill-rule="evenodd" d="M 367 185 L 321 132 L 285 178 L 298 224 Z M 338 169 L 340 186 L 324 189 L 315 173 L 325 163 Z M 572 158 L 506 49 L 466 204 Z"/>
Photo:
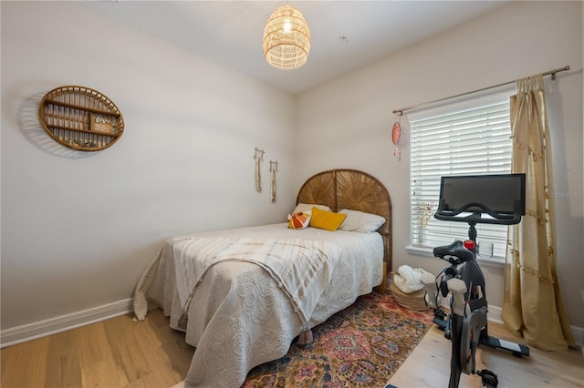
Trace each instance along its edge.
<path fill-rule="evenodd" d="M 393 203 L 393 269 L 409 264 L 436 273 L 443 261 L 405 249 L 410 154 L 393 156 L 392 110 L 571 66 L 557 81 L 547 77 L 547 103 L 556 190 L 576 193 L 557 199 L 558 277 L 570 323 L 584 327 L 581 7 L 514 2 L 301 95 L 297 184 L 341 167 L 381 179 Z M 483 271 L 489 303 L 502 306 L 503 269 L 483 265 Z"/>

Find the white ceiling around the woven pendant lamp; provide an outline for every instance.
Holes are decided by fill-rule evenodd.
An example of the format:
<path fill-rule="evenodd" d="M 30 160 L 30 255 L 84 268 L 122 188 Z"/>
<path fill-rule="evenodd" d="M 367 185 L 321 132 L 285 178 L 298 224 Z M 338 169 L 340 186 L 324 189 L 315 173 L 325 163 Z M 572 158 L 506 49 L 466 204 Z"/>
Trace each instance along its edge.
<path fill-rule="evenodd" d="M 292 94 L 442 33 L 509 0 L 289 1 L 311 34 L 296 70 L 266 63 L 264 26 L 283 1 L 81 1 L 152 36 Z"/>

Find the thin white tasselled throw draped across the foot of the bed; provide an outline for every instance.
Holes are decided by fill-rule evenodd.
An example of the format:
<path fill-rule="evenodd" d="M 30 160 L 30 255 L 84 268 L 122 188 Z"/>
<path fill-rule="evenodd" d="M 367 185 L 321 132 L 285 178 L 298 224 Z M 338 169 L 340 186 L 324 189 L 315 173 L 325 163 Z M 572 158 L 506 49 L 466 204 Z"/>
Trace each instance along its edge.
<path fill-rule="evenodd" d="M 340 255 L 336 245 L 299 239 L 189 237 L 175 240 L 173 251 L 183 311 L 188 311 L 197 284 L 212 266 L 227 260 L 247 261 L 259 265 L 272 276 L 307 329 L 310 315 L 328 287 Z"/>

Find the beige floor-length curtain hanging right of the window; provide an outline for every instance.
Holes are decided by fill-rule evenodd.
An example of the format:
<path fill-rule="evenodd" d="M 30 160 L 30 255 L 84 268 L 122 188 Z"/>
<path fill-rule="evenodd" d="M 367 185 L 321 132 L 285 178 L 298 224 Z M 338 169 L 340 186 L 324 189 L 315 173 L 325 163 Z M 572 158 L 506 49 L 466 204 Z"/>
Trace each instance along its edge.
<path fill-rule="evenodd" d="M 528 345 L 547 351 L 576 347 L 556 271 L 556 241 L 544 80 L 516 82 L 510 98 L 512 172 L 526 174 L 526 215 L 509 227 L 505 296 L 506 327 Z"/>

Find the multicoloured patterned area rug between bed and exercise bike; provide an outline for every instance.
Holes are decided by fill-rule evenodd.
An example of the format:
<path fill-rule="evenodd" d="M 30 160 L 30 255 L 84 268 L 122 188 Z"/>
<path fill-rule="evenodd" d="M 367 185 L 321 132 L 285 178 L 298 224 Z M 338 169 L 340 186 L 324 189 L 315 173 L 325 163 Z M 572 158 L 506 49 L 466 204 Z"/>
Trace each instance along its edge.
<path fill-rule="evenodd" d="M 295 340 L 284 357 L 252 369 L 242 387 L 391 387 L 432 320 L 431 310 L 407 310 L 390 292 L 373 291 L 312 329 L 309 345 Z"/>

